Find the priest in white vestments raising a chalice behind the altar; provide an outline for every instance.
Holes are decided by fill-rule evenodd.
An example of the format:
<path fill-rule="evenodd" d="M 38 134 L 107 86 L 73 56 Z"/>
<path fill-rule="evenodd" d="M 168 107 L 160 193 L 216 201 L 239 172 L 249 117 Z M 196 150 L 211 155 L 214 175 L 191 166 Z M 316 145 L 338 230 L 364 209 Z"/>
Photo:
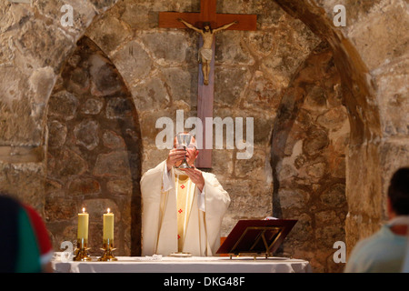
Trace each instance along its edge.
<path fill-rule="evenodd" d="M 174 147 L 165 161 L 142 176 L 143 256 L 216 256 L 230 196 L 213 174 L 175 168 L 185 153 L 194 166 L 199 154 L 195 146 L 186 152 Z"/>

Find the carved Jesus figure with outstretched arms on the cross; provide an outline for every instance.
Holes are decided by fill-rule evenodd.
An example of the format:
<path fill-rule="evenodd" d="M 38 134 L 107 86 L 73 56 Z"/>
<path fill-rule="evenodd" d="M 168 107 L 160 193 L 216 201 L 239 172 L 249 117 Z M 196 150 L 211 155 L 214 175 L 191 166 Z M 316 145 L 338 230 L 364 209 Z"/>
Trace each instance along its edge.
<path fill-rule="evenodd" d="M 210 26 L 210 23 L 205 22 L 203 24 L 203 29 L 195 27 L 194 25 L 191 25 L 185 20 L 178 18 L 181 23 L 186 25 L 187 27 L 195 30 L 195 32 L 199 33 L 203 37 L 203 45 L 199 49 L 199 53 L 197 55 L 199 63 L 202 64 L 202 71 L 203 71 L 203 77 L 204 77 L 204 85 L 209 84 L 209 74 L 210 74 L 210 62 L 212 61 L 213 57 L 213 50 L 212 50 L 212 45 L 214 41 L 214 35 L 229 28 L 232 25 L 237 24 L 237 21 L 232 22 L 231 24 L 223 25 L 218 28 L 212 29 Z"/>

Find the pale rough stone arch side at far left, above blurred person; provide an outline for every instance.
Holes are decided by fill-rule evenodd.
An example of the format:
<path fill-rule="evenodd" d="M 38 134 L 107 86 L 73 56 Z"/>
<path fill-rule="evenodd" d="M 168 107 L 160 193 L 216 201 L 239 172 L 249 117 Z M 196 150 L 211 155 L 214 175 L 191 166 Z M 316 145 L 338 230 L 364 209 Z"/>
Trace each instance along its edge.
<path fill-rule="evenodd" d="M 46 107 L 65 59 L 96 15 L 117 0 L 72 2 L 73 26 L 63 27 L 61 3 L 0 3 L 2 15 L 0 85 L 2 100 L 2 190 L 45 216 Z M 8 152 L 18 153 L 9 155 Z"/>

